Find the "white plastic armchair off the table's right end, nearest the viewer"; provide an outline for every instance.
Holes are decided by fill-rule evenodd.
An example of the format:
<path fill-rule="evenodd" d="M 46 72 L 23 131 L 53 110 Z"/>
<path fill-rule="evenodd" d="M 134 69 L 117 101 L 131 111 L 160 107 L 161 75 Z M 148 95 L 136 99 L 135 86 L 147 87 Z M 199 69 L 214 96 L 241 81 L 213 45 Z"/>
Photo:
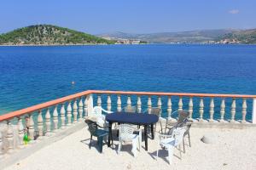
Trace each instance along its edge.
<path fill-rule="evenodd" d="M 183 142 L 183 134 L 186 129 L 183 127 L 174 128 L 172 134 L 161 134 L 159 135 L 159 146 L 168 150 L 168 161 L 172 164 L 172 156 L 174 147 L 179 146 L 180 159 L 181 155 L 181 144 Z M 158 158 L 158 150 L 156 151 L 156 159 Z"/>

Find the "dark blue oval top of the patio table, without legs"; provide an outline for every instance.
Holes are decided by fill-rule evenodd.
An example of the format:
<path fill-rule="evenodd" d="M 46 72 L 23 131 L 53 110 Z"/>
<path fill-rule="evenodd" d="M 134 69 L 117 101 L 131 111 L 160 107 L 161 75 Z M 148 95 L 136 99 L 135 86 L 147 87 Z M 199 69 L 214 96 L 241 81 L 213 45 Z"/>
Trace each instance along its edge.
<path fill-rule="evenodd" d="M 106 116 L 108 122 L 120 122 L 131 124 L 153 124 L 158 122 L 159 117 L 148 113 L 114 112 Z"/>

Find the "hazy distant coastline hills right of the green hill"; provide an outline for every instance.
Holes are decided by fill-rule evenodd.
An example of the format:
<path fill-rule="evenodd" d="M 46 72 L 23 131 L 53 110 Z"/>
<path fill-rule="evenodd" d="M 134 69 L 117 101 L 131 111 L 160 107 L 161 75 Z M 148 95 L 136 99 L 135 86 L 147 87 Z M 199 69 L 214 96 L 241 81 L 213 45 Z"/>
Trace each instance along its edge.
<path fill-rule="evenodd" d="M 148 34 L 131 34 L 125 32 L 111 32 L 97 35 L 109 40 L 137 39 L 149 43 L 238 43 L 256 44 L 256 29 L 251 30 L 201 30 L 160 32 Z"/>

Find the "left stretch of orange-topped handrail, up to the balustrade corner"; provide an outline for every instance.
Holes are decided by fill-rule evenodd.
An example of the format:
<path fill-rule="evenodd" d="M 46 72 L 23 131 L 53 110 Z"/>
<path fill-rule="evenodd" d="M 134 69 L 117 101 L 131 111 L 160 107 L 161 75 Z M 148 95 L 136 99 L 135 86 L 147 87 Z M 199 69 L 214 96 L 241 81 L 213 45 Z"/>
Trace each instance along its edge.
<path fill-rule="evenodd" d="M 78 94 L 71 94 L 71 95 L 65 96 L 63 98 L 50 100 L 50 101 L 42 103 L 42 104 L 32 105 L 32 106 L 27 107 L 25 109 L 21 109 L 21 110 L 18 110 L 18 111 L 12 111 L 12 112 L 1 115 L 0 116 L 0 122 L 7 121 L 7 120 L 9 120 L 11 118 L 14 118 L 16 116 L 23 116 L 23 115 L 26 115 L 26 114 L 31 113 L 33 111 L 40 111 L 40 110 L 43 110 L 43 109 L 48 108 L 48 107 L 53 106 L 53 105 L 59 105 L 59 104 L 64 103 L 68 100 L 76 99 L 76 98 L 80 98 L 84 95 L 92 94 L 91 92 L 92 92 L 92 90 L 86 90 L 86 91 L 80 92 Z"/>

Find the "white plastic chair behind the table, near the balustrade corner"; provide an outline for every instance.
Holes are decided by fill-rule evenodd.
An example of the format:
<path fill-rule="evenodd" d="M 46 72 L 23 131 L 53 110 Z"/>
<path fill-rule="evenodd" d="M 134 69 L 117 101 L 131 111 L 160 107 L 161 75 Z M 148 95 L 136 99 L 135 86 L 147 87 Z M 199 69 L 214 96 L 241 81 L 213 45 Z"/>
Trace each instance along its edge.
<path fill-rule="evenodd" d="M 105 113 L 113 113 L 113 111 L 106 111 L 101 106 L 95 106 L 92 110 L 91 116 L 96 117 L 96 122 L 102 127 L 105 127 L 108 123 L 105 120 L 105 116 L 102 115 L 102 111 Z"/>

